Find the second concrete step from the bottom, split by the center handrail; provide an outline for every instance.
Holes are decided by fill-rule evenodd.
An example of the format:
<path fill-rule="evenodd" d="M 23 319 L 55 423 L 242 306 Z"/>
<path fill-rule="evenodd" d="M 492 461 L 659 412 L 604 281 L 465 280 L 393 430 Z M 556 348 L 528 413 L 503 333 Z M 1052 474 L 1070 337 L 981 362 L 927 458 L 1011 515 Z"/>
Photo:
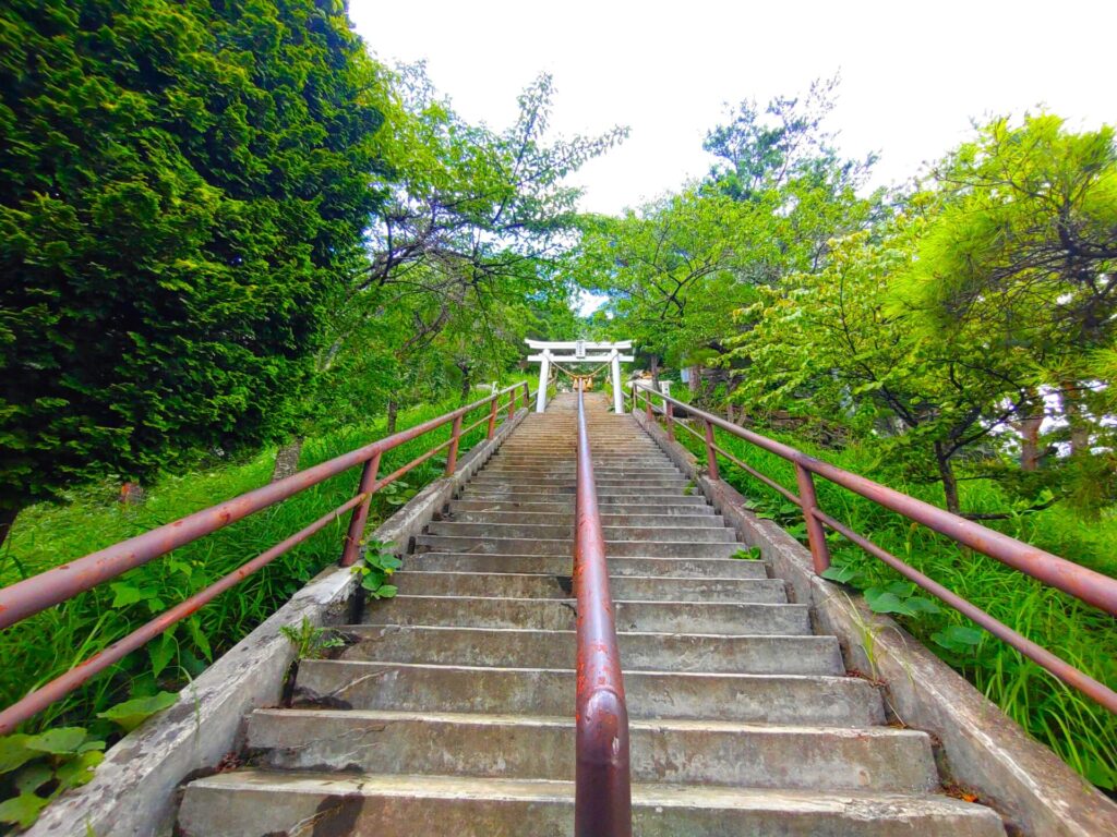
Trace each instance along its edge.
<path fill-rule="evenodd" d="M 632 781 L 738 788 L 937 789 L 926 733 L 719 720 L 629 724 Z M 248 747 L 281 770 L 574 778 L 574 719 L 441 712 L 257 710 Z"/>

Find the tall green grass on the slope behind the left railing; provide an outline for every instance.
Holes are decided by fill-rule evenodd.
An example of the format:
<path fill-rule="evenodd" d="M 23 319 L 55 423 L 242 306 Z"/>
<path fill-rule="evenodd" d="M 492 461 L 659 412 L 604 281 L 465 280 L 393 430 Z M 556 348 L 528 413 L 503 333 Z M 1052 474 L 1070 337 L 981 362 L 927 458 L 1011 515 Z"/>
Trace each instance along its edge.
<path fill-rule="evenodd" d="M 458 406 L 457 401 L 401 413 L 399 429 L 414 426 Z M 471 413 L 466 423 L 481 416 Z M 500 416 L 504 420 L 504 416 Z M 446 425 L 386 453 L 381 474 L 390 473 L 449 439 Z M 306 440 L 300 468 L 324 462 L 385 435 L 384 421 L 345 427 Z M 485 437 L 485 425 L 462 436 L 460 451 Z M 78 558 L 163 523 L 266 484 L 275 450 L 238 464 L 168 477 L 141 506 L 115 501 L 113 487 L 73 492 L 61 506 L 23 511 L 0 551 L 0 586 Z M 412 491 L 441 475 L 442 456 L 428 460 L 402 480 Z M 9 627 L 0 639 L 0 701 L 9 705 L 76 663 L 116 642 L 153 615 L 212 584 L 283 538 L 341 506 L 356 492 L 354 468 L 269 509 L 139 567 L 113 583 Z M 402 494 L 402 497 L 401 497 Z M 386 519 L 407 491 L 373 496 L 369 530 Z M 218 655 L 270 616 L 307 580 L 341 555 L 349 516 L 241 581 L 198 614 L 180 623 L 120 664 L 103 672 L 29 721 L 23 731 L 58 724 L 96 728 L 97 712 L 160 690 L 176 691 Z"/>

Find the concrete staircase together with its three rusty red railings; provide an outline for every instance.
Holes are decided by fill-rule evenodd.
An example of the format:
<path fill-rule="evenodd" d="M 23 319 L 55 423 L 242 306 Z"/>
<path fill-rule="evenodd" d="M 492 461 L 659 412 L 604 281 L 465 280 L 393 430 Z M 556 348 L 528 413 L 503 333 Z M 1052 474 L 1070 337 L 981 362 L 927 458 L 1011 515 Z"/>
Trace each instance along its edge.
<path fill-rule="evenodd" d="M 834 636 L 812 629 L 809 605 L 789 602 L 765 561 L 742 559 L 735 530 L 634 419 L 609 412 L 604 395 L 573 379 L 576 392 L 527 415 L 414 538 L 397 576 L 400 594 L 337 627 L 346 647 L 336 658 L 302 661 L 289 705 L 251 714 L 248 766 L 185 787 L 179 834 L 1003 836 L 992 809 L 943 792 L 932 738 L 888 725 L 878 685 L 847 674 Z M 0 729 L 15 729 L 344 513 L 342 562 L 356 561 L 370 497 L 441 450 L 452 473 L 461 436 L 487 423 L 491 439 L 521 393 L 529 404 L 526 387 L 494 393 L 0 590 L 0 625 L 9 625 L 362 466 L 342 507 L 9 708 Z M 812 475 L 1117 613 L 1114 579 L 668 396 L 634 391 L 632 406 L 665 419 L 671 437 L 695 432 L 709 479 L 718 479 L 722 458 L 799 504 L 819 571 L 825 526 L 1018 642 L 819 509 Z M 701 432 L 676 421 L 682 410 Z M 464 426 L 475 411 L 485 412 Z M 379 475 L 385 451 L 447 425 L 448 440 Z M 794 462 L 798 493 L 734 459 L 717 432 Z M 1117 706 L 1107 686 L 1019 639 L 1033 660 Z"/>

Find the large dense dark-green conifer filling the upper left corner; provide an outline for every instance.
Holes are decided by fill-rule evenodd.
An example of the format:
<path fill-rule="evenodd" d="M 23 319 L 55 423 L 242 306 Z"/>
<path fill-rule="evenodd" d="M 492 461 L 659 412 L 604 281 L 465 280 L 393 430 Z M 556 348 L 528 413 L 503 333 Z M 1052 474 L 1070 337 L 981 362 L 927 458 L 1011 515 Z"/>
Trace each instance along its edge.
<path fill-rule="evenodd" d="M 383 80 L 343 6 L 0 11 L 0 538 L 288 419 L 361 264 Z"/>

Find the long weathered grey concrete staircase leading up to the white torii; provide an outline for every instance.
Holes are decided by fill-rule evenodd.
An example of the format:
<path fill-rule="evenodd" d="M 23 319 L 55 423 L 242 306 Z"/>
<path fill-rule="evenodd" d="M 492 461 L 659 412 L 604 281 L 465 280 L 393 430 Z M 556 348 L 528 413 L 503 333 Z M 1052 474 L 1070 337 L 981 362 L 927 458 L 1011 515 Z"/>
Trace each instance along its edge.
<path fill-rule="evenodd" d="M 993 837 L 930 740 L 628 416 L 586 396 L 631 718 L 634 833 Z M 573 833 L 575 401 L 531 415 L 416 542 L 400 594 L 192 782 L 187 837 Z"/>

